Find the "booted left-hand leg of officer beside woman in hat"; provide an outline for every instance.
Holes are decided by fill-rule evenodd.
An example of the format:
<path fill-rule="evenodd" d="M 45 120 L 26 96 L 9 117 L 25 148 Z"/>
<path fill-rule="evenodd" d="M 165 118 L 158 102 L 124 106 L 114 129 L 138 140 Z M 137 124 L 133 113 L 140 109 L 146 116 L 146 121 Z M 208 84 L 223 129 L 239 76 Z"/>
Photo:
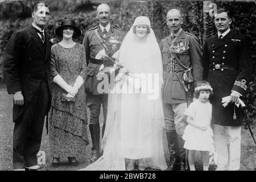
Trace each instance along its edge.
<path fill-rule="evenodd" d="M 90 162 L 93 163 L 99 158 L 99 113 L 101 111 L 101 95 L 86 94 L 86 106 L 90 109 L 90 123 L 89 129 L 91 134 L 91 148 L 92 157 Z"/>

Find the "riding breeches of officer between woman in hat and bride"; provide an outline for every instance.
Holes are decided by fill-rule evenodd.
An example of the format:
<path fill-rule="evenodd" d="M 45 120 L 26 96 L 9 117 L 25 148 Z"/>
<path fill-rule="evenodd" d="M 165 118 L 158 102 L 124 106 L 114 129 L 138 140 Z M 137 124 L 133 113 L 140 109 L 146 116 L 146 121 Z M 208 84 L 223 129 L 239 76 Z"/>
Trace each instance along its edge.
<path fill-rule="evenodd" d="M 99 123 L 99 113 L 101 111 L 101 104 L 103 107 L 104 123 L 107 118 L 107 94 L 93 95 L 86 94 L 86 106 L 90 109 L 90 123 L 89 125 L 96 125 Z"/>

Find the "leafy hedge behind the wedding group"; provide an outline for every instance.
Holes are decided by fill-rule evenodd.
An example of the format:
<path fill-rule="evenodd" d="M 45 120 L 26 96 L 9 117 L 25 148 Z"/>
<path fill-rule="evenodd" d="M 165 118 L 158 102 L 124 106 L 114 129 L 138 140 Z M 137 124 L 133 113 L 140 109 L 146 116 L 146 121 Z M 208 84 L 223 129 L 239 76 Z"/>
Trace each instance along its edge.
<path fill-rule="evenodd" d="M 209 36 L 216 33 L 213 18 L 207 12 L 210 2 L 187 1 L 43 1 L 50 7 L 50 20 L 46 31 L 54 38 L 54 43 L 60 39 L 54 35 L 54 30 L 65 18 L 74 19 L 83 34 L 77 38 L 82 43 L 86 30 L 97 26 L 96 8 L 101 3 L 111 7 L 111 23 L 121 28 L 126 34 L 137 16 L 148 16 L 151 20 L 158 42 L 169 35 L 165 23 L 166 13 L 172 8 L 182 11 L 183 29 L 195 34 L 203 46 Z M 231 28 L 244 36 L 249 44 L 253 57 L 253 80 L 250 82 L 249 93 L 245 96 L 249 120 L 256 117 L 256 4 L 255 2 L 214 1 L 217 7 L 226 7 L 231 11 L 233 23 Z M 26 27 L 32 22 L 31 9 L 38 1 L 7 1 L 0 3 L 0 84 L 3 83 L 2 55 L 10 36 L 14 31 Z"/>

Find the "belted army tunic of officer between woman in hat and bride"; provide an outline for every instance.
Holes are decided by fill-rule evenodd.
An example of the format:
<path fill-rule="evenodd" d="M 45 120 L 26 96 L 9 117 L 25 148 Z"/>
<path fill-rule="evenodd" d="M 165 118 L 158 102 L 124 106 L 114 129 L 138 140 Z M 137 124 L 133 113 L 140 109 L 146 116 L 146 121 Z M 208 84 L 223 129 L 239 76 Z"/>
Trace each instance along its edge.
<path fill-rule="evenodd" d="M 98 31 L 98 34 L 101 36 L 101 39 L 106 44 L 109 52 L 106 52 L 110 57 L 113 56 L 115 52 L 117 52 L 121 46 L 123 40 L 123 32 L 112 25 L 110 25 L 110 30 L 107 34 L 103 34 L 101 28 L 96 26 L 94 28 L 90 28 L 85 33 L 85 38 L 83 39 L 83 46 L 85 46 L 85 53 L 86 53 L 86 75 L 93 77 L 93 82 L 91 85 L 91 94 L 98 95 L 99 92 L 97 90 L 97 86 L 101 80 L 97 80 L 97 74 L 99 72 L 99 67 L 101 66 L 99 60 L 95 60 L 95 56 L 104 49 L 101 44 L 101 41 L 98 39 L 97 35 L 95 34 L 95 30 Z M 93 62 L 94 61 L 94 62 Z M 95 64 L 95 61 L 99 62 Z M 92 63 L 93 62 L 93 63 Z"/>

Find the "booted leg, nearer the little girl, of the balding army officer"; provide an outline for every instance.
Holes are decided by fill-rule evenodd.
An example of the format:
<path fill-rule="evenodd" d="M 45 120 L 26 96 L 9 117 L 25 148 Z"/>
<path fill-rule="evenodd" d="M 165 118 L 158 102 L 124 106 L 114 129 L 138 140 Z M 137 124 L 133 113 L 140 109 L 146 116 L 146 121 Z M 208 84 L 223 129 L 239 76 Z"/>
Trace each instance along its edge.
<path fill-rule="evenodd" d="M 187 126 L 187 117 L 184 115 L 185 109 L 187 109 L 187 103 L 173 104 L 174 111 L 174 125 L 178 135 L 178 151 L 179 159 L 181 159 L 181 170 L 185 169 L 186 163 L 186 149 L 184 148 L 185 141 L 182 139 L 185 127 Z"/>

